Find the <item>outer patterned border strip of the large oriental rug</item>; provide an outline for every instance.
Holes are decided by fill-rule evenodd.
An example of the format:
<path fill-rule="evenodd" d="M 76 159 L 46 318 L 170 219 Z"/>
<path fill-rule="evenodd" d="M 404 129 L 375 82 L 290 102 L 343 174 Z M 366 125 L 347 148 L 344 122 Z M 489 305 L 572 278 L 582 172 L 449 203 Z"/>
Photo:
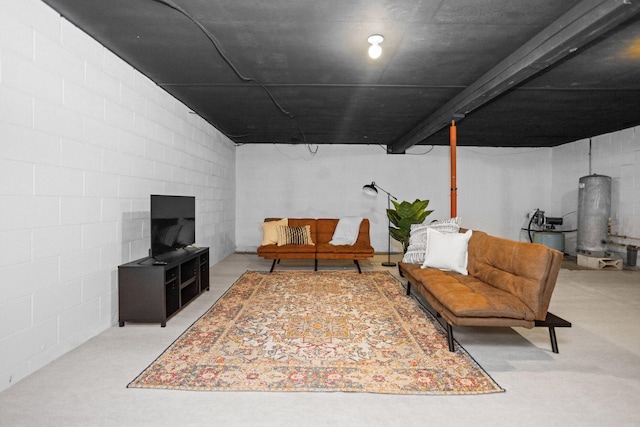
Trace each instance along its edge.
<path fill-rule="evenodd" d="M 307 273 L 309 275 L 332 275 L 332 274 L 344 274 L 349 275 L 353 274 L 355 277 L 366 277 L 366 276 L 375 276 L 375 275 L 386 275 L 387 278 L 400 287 L 403 290 L 406 290 L 402 282 L 395 277 L 391 272 L 388 271 L 363 271 L 362 273 L 343 271 L 343 270 L 320 270 L 320 271 L 307 271 L 307 270 L 283 270 L 283 271 L 274 271 L 274 272 L 266 272 L 260 270 L 247 270 L 238 277 L 233 284 L 218 298 L 216 301 L 212 303 L 212 305 L 207 308 L 202 315 L 200 315 L 193 323 L 191 323 L 183 332 L 181 332 L 171 344 L 167 346 L 146 368 L 144 368 L 140 374 L 138 374 L 129 384 L 127 384 L 126 388 L 144 388 L 144 389 L 161 389 L 161 390 L 180 390 L 180 391 L 199 391 L 199 392 L 333 392 L 333 393 L 371 393 L 371 394 L 393 394 L 393 395 L 424 395 L 424 396 L 460 396 L 460 395 L 480 395 L 480 394 L 492 394 L 492 393 L 503 393 L 506 390 L 502 388 L 493 377 L 484 369 L 482 366 L 475 360 L 471 354 L 457 341 L 457 349 L 454 354 L 458 356 L 467 357 L 469 361 L 474 365 L 474 367 L 482 373 L 482 376 L 488 381 L 490 388 L 481 389 L 481 390 L 431 390 L 431 391 L 372 391 L 372 390 L 354 390 L 354 389 L 322 389 L 316 387 L 299 387 L 299 388 L 290 388 L 290 389 L 256 389 L 256 388 L 229 388 L 229 387 L 195 387 L 195 386 L 175 386 L 175 385 L 166 385 L 166 384 L 140 384 L 140 381 L 145 377 L 147 371 L 149 371 L 156 363 L 159 361 L 170 351 L 174 349 L 175 346 L 191 331 L 194 326 L 196 326 L 200 321 L 207 317 L 210 314 L 212 309 L 216 307 L 218 303 L 224 300 L 233 290 L 234 287 L 240 283 L 248 274 L 258 274 L 264 276 L 263 279 L 266 279 L 270 276 L 276 275 L 289 275 L 289 274 L 300 274 Z M 415 304 L 420 312 L 429 320 L 431 325 L 437 329 L 438 333 L 443 336 L 443 339 L 446 344 L 446 331 L 442 324 L 435 318 L 433 314 L 424 306 L 424 304 L 419 301 L 415 296 L 408 296 L 412 300 L 412 303 Z M 403 322 L 404 324 L 404 322 Z M 448 351 L 448 350 L 447 350 Z M 357 368 L 356 368 L 357 370 Z"/>

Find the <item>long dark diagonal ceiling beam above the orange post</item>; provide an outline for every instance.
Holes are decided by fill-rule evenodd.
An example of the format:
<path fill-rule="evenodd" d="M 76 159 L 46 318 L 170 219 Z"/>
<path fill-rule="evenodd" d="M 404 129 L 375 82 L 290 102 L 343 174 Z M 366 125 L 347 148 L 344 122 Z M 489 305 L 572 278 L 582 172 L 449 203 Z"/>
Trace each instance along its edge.
<path fill-rule="evenodd" d="M 387 146 L 404 153 L 452 120 L 464 118 L 640 12 L 640 0 L 583 0 L 404 136 Z"/>

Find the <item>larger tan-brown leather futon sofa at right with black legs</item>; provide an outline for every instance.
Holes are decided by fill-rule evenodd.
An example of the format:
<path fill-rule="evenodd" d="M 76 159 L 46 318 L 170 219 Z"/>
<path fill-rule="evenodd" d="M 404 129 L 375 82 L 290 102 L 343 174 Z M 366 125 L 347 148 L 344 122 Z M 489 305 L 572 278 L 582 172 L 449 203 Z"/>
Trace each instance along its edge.
<path fill-rule="evenodd" d="M 549 313 L 563 254 L 535 243 L 516 242 L 473 231 L 468 243 L 468 275 L 421 264 L 399 264 L 408 280 L 446 322 L 449 350 L 455 326 L 549 328 L 558 352 L 555 327 L 571 323 Z"/>

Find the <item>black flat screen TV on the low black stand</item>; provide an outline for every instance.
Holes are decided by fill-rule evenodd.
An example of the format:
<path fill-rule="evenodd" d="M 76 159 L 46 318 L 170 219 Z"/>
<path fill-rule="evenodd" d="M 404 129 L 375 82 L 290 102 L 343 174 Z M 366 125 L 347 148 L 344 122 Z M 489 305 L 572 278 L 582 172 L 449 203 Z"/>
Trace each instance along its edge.
<path fill-rule="evenodd" d="M 182 249 L 196 242 L 196 198 L 151 195 L 151 256 Z"/>

